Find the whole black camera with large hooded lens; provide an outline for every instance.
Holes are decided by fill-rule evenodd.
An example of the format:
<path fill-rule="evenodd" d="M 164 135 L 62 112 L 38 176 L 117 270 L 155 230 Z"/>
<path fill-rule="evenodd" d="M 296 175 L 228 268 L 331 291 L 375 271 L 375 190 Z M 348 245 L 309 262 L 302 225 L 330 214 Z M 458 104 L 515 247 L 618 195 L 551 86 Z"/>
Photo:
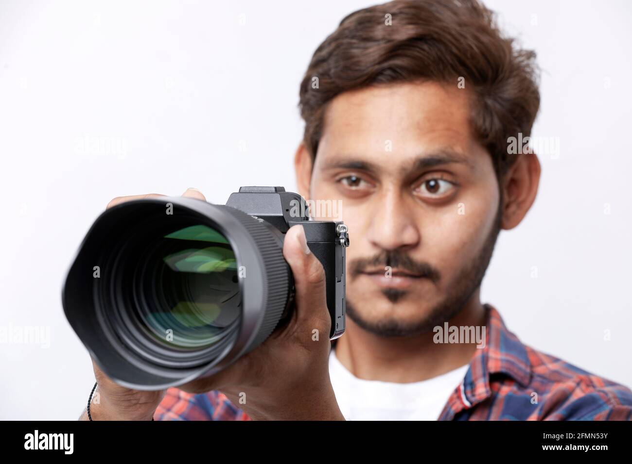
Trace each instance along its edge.
<path fill-rule="evenodd" d="M 145 198 L 104 211 L 64 282 L 66 318 L 102 371 L 136 390 L 210 376 L 291 316 L 283 258 L 300 224 L 325 271 L 330 339 L 344 332 L 346 225 L 310 220 L 283 187 L 241 187 L 226 205 Z M 309 334 L 311 336 L 311 334 Z"/>

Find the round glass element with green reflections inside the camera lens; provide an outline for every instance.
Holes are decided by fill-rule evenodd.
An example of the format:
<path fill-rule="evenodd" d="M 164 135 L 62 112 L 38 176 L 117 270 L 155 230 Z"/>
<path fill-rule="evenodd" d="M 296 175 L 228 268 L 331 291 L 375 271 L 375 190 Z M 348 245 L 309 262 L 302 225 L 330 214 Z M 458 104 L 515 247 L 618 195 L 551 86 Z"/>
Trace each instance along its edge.
<path fill-rule="evenodd" d="M 197 224 L 162 235 L 138 264 L 137 321 L 156 342 L 197 350 L 221 342 L 239 323 L 237 261 L 218 230 Z"/>

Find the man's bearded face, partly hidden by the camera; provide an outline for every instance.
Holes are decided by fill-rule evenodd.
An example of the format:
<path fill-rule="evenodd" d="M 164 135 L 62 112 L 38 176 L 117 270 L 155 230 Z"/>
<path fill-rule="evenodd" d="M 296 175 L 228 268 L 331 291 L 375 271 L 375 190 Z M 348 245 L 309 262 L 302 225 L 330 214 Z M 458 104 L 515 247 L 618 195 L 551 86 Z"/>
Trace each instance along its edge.
<path fill-rule="evenodd" d="M 339 95 L 325 114 L 312 199 L 341 199 L 347 314 L 382 336 L 427 331 L 478 289 L 499 231 L 492 159 L 470 95 L 405 83 Z"/>

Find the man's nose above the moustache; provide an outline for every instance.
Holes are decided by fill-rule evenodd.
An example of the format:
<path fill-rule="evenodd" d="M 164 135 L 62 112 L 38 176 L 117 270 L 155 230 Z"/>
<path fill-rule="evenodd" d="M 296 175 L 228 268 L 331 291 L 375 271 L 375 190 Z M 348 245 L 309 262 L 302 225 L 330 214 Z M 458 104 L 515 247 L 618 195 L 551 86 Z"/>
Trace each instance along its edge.
<path fill-rule="evenodd" d="M 421 236 L 411 205 L 401 194 L 387 193 L 376 200 L 368 240 L 379 249 L 408 249 L 419 244 Z"/>

